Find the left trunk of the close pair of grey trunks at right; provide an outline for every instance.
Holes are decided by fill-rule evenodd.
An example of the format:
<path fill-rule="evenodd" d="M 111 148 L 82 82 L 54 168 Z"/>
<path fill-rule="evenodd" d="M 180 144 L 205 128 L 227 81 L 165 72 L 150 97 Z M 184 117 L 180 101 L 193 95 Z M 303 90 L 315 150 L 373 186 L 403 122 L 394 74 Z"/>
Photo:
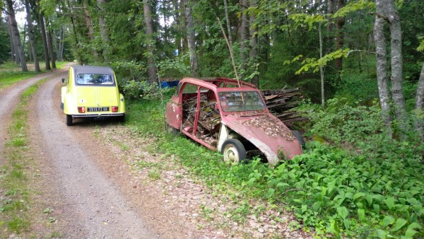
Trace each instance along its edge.
<path fill-rule="evenodd" d="M 386 52 L 386 37 L 384 37 L 384 18 L 382 18 L 382 1 L 376 1 L 377 16 L 374 23 L 374 40 L 376 52 L 376 67 L 377 67 L 377 83 L 379 102 L 382 107 L 382 119 L 386 125 L 389 136 L 392 134 L 391 116 L 390 116 L 390 100 L 389 88 L 387 86 L 387 52 Z"/>

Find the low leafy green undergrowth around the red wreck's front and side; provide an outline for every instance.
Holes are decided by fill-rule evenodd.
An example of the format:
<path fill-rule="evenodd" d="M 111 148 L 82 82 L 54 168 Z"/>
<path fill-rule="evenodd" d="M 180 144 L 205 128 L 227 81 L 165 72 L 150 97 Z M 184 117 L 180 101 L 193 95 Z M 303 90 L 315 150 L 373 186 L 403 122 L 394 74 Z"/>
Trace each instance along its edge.
<path fill-rule="evenodd" d="M 152 150 L 177 156 L 214 194 L 290 209 L 319 237 L 422 238 L 422 145 L 387 139 L 375 106 L 334 104 L 334 110 L 311 111 L 306 133 L 315 141 L 275 168 L 259 159 L 230 167 L 219 153 L 165 133 L 160 100 L 129 102 L 128 125 L 155 139 Z M 232 217 L 249 210 L 240 206 Z"/>

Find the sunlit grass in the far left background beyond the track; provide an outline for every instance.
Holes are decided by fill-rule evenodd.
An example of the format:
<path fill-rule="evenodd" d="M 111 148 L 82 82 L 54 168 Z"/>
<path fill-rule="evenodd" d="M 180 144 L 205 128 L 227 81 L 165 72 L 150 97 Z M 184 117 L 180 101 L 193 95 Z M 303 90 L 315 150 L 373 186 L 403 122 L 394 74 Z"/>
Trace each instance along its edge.
<path fill-rule="evenodd" d="M 56 62 L 57 69 L 63 69 L 67 62 Z M 30 66 L 30 64 L 28 64 Z M 40 67 L 42 71 L 45 71 L 45 66 L 43 62 L 40 62 Z M 6 62 L 5 64 L 0 65 L 0 90 L 8 86 L 13 85 L 18 81 L 25 80 L 32 76 L 40 74 L 35 71 L 26 71 L 23 72 L 20 69 L 20 66 L 16 66 L 14 62 Z"/>

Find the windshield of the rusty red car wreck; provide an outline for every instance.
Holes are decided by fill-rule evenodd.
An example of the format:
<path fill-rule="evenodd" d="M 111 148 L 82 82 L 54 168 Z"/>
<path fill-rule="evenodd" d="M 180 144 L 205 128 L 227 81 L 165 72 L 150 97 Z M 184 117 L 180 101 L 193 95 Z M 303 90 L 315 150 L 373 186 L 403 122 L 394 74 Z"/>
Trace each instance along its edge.
<path fill-rule="evenodd" d="M 218 95 L 221 109 L 225 112 L 265 110 L 265 103 L 257 91 L 227 91 Z"/>

